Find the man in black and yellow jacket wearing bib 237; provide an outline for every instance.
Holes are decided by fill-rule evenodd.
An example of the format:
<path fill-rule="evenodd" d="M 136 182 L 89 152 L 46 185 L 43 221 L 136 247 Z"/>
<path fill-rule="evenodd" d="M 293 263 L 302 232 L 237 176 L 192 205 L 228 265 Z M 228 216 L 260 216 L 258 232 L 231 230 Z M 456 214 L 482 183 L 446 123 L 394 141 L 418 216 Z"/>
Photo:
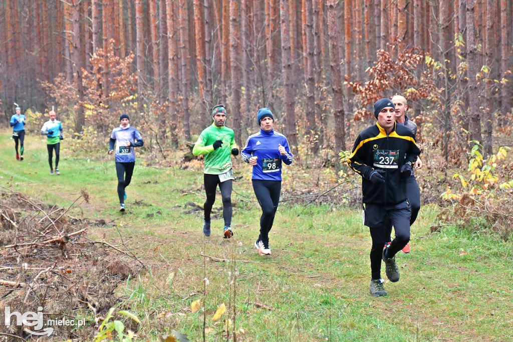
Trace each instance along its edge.
<path fill-rule="evenodd" d="M 358 136 L 347 163 L 362 176 L 364 224 L 372 238 L 370 250 L 370 293 L 386 295 L 381 279 L 381 260 L 385 261 L 386 275 L 392 282 L 399 281 L 395 255 L 410 239 L 410 206 L 406 183 L 411 176 L 411 165 L 420 155 L 412 132 L 396 124 L 396 109 L 389 99 L 374 104 L 376 125 L 367 127 Z M 387 222 L 396 229 L 396 238 L 387 242 Z"/>

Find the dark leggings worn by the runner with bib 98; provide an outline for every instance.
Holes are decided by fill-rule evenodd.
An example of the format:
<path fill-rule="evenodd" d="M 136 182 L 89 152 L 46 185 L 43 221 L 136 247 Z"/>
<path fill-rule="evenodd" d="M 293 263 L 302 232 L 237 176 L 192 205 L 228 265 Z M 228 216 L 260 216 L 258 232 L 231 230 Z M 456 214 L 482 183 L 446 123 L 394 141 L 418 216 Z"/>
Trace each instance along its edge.
<path fill-rule="evenodd" d="M 276 214 L 278 203 L 280 202 L 282 182 L 253 179 L 253 190 L 262 207 L 259 240 L 269 242 L 269 231 L 272 228 L 274 215 Z"/>

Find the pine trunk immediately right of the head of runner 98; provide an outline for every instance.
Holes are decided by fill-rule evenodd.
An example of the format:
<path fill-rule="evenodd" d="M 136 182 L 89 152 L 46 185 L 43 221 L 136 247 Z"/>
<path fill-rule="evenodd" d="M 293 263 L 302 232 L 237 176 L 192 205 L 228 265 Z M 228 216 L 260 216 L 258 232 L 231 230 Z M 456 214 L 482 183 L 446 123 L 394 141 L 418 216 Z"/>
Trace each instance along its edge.
<path fill-rule="evenodd" d="M 294 0 L 292 0 L 294 1 Z M 282 72 L 285 88 L 285 136 L 290 147 L 297 151 L 297 136 L 295 131 L 295 102 L 294 83 L 292 81 L 292 51 L 290 47 L 290 13 L 289 0 L 280 1 L 280 27 L 282 33 Z"/>

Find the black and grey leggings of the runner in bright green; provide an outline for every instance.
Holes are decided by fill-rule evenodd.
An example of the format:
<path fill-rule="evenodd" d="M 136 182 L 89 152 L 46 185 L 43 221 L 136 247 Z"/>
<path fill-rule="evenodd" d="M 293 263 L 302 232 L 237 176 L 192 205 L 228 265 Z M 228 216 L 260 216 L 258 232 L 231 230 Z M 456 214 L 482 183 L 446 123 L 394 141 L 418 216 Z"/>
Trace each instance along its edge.
<path fill-rule="evenodd" d="M 210 213 L 212 212 L 212 206 L 215 202 L 215 189 L 219 184 L 221 199 L 223 200 L 223 219 L 225 226 L 231 226 L 231 215 L 233 213 L 231 207 L 231 190 L 233 180 L 229 179 L 221 182 L 219 181 L 219 175 L 203 174 L 203 181 L 205 182 L 205 193 L 207 194 L 207 200 L 203 206 L 205 210 L 205 221 L 210 222 Z"/>

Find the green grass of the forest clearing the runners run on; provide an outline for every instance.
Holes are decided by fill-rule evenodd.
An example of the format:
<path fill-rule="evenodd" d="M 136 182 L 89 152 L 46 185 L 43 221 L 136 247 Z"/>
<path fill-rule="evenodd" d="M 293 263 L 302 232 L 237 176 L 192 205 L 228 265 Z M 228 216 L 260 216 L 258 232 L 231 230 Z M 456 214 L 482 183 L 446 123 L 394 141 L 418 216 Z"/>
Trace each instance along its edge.
<path fill-rule="evenodd" d="M 388 295 L 368 292 L 370 236 L 361 212 L 343 206 L 282 203 L 270 234 L 272 255 L 260 257 L 253 246 L 260 210 L 252 195 L 250 169 L 236 162 L 234 237 L 222 239 L 221 198 L 214 205 L 212 236 L 201 231 L 202 172 L 177 167 L 135 166 L 127 188 L 128 213 L 117 212 L 114 162 L 72 156 L 63 142 L 61 176 L 48 174 L 44 137 L 27 136 L 25 160 L 14 158 L 13 141 L 0 135 L 0 184 L 48 204 L 68 207 L 80 196 L 89 203 L 74 215 L 115 220 L 117 227 L 91 227 L 92 237 L 117 242 L 121 232 L 130 249 L 150 270 L 119 289 L 126 309 L 142 318 L 142 340 L 156 340 L 172 329 L 202 340 L 203 310 L 190 304 L 205 299 L 207 340 L 226 340 L 223 320 L 233 319 L 238 335 L 247 341 L 428 341 L 511 338 L 513 326 L 513 248 L 495 235 L 442 227 L 430 234 L 438 208 L 424 206 L 412 227 L 412 252 L 397 257 L 401 281 L 385 283 Z M 288 181 L 308 177 L 294 165 Z M 284 187 L 287 184 L 284 184 Z M 295 187 L 298 187 L 295 185 Z M 139 204 L 136 204 L 137 203 Z M 157 214 L 157 212 L 161 214 Z M 153 214 L 153 215 L 151 215 Z M 205 260 L 200 254 L 231 261 Z M 236 260 L 233 263 L 233 260 Z M 205 265 L 205 266 L 204 266 Z M 382 268 L 384 276 L 384 268 Z M 172 282 L 166 282 L 174 273 Z M 235 275 L 236 294 L 233 301 Z M 204 278 L 208 279 L 204 298 Z M 232 298 L 232 299 L 230 299 Z M 225 303 L 220 321 L 212 321 Z M 258 308 L 254 303 L 271 307 Z M 159 314 L 168 313 L 164 318 Z"/>

